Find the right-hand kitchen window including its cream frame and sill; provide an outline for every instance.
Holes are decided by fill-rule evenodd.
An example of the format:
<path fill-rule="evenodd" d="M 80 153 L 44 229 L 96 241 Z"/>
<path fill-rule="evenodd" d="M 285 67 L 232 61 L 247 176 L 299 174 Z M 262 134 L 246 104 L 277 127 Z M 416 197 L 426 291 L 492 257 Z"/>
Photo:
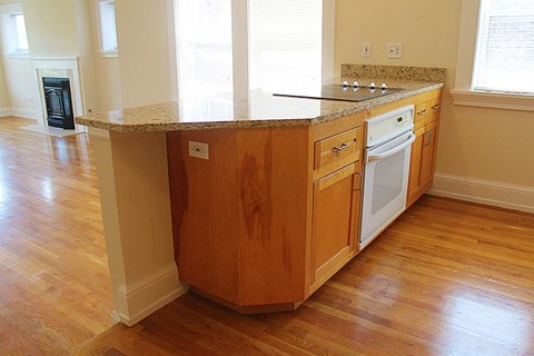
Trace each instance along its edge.
<path fill-rule="evenodd" d="M 525 20 L 532 18 L 532 0 L 462 2 L 455 88 L 451 90 L 454 105 L 534 111 L 532 85 L 525 90 L 533 70 L 534 34 L 532 21 Z M 502 33 L 510 43 L 498 39 Z M 517 80 L 520 71 L 518 83 L 506 79 Z"/>

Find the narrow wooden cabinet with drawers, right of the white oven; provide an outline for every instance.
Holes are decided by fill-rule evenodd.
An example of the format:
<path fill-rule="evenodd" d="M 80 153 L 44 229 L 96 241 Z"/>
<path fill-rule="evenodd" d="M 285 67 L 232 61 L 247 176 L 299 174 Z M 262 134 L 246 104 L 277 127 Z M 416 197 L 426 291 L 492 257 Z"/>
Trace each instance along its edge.
<path fill-rule="evenodd" d="M 441 95 L 441 89 L 431 91 L 429 100 L 416 106 L 414 122 L 416 140 L 412 145 L 407 207 L 425 194 L 432 187 L 434 180 L 439 131 Z M 421 113 L 422 110 L 425 110 L 424 115 Z"/>

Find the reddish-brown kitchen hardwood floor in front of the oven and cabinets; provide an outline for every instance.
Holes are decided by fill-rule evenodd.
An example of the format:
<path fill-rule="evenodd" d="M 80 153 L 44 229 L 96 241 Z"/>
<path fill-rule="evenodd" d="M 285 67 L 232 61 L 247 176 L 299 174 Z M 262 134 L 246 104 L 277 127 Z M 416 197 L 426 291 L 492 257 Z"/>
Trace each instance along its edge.
<path fill-rule="evenodd" d="M 75 355 L 534 355 L 534 215 L 425 196 L 295 312 L 187 294 Z"/>

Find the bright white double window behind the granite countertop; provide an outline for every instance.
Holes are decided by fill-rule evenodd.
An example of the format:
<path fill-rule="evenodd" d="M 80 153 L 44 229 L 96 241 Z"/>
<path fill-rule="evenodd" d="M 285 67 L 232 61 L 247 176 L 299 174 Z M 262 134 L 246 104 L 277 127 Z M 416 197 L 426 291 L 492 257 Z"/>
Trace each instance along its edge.
<path fill-rule="evenodd" d="M 323 48 L 323 3 L 176 0 L 179 97 L 320 83 L 323 58 L 333 57 Z"/>

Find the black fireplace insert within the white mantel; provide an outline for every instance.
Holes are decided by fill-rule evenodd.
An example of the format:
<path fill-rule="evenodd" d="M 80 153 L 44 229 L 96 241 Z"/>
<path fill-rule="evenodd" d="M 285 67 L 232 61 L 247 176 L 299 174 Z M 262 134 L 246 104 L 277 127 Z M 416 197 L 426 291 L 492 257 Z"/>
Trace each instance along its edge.
<path fill-rule="evenodd" d="M 69 78 L 42 77 L 47 122 L 51 127 L 75 129 Z"/>

